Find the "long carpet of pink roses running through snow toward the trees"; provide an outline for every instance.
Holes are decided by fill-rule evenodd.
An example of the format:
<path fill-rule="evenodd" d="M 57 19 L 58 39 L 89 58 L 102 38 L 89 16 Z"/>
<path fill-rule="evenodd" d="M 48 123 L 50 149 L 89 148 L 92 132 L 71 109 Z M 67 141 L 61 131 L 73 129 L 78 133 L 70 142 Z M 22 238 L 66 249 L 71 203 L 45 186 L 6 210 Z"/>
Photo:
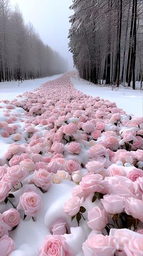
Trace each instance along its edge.
<path fill-rule="evenodd" d="M 38 188 L 47 193 L 62 180 L 76 183 L 63 208 L 70 226 L 77 220 L 90 228 L 84 255 L 141 255 L 142 118 L 77 91 L 70 76 L 0 102 L 0 139 L 9 144 L 0 155 L 0 203 L 9 208 L 0 215 L 1 255 L 15 249 L 8 230 L 41 209 Z M 73 255 L 68 224 L 57 219 L 51 230 L 39 255 Z"/>

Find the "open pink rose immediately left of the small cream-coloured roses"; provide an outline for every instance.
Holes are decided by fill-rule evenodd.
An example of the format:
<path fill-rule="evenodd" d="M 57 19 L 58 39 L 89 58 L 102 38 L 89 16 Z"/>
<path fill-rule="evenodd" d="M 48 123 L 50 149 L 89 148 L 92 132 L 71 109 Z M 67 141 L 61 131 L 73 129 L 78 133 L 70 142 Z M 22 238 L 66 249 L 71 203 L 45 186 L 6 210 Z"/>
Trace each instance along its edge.
<path fill-rule="evenodd" d="M 39 169 L 34 172 L 31 182 L 34 182 L 37 187 L 47 190 L 52 184 L 52 173 L 45 169 Z"/>

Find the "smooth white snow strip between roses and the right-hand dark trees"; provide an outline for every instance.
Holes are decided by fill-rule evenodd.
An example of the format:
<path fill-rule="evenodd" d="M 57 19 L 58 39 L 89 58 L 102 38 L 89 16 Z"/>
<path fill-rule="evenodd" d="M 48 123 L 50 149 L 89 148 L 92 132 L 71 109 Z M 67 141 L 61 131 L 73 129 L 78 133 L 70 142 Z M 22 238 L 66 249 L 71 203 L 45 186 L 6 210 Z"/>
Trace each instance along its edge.
<path fill-rule="evenodd" d="M 83 79 L 72 78 L 71 81 L 77 90 L 85 94 L 116 102 L 117 107 L 124 109 L 128 115 L 142 116 L 143 114 L 142 90 L 132 90 L 124 87 L 112 90 L 111 87 L 105 87 L 104 85 L 99 87 L 99 85 L 94 85 Z"/>

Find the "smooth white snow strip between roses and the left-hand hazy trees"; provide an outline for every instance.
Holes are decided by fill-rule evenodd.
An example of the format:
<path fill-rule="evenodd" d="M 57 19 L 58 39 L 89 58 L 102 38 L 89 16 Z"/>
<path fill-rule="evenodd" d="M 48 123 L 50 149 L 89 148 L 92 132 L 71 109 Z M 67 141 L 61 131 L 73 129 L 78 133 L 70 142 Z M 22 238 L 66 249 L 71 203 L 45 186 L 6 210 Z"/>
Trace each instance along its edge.
<path fill-rule="evenodd" d="M 16 98 L 18 94 L 24 93 L 25 91 L 32 91 L 40 85 L 45 84 L 50 80 L 55 80 L 60 76 L 61 75 L 55 75 L 35 80 L 24 80 L 22 83 L 19 81 L 2 82 L 0 83 L 0 100 L 8 99 L 11 101 L 12 99 Z"/>

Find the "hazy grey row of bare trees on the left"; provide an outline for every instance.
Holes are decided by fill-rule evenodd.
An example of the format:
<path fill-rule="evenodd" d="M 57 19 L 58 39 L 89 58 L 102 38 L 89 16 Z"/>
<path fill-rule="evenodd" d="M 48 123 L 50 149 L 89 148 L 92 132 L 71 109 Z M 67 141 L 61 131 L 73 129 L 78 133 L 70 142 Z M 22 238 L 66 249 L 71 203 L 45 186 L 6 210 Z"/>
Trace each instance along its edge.
<path fill-rule="evenodd" d="M 0 82 L 60 74 L 68 63 L 45 45 L 32 24 L 24 24 L 18 6 L 0 0 Z"/>

